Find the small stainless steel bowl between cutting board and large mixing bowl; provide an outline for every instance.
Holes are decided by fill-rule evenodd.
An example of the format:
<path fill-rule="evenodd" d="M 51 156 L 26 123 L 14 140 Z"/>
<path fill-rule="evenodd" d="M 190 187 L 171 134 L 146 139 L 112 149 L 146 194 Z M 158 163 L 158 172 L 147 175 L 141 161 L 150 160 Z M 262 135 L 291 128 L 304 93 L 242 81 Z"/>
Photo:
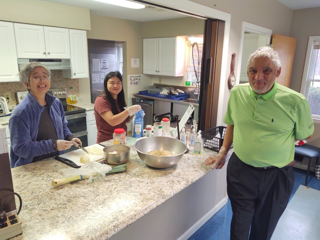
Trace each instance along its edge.
<path fill-rule="evenodd" d="M 116 154 L 109 153 L 116 151 Z M 118 165 L 128 162 L 130 157 L 130 147 L 123 144 L 110 145 L 103 148 L 103 156 L 108 164 Z"/>

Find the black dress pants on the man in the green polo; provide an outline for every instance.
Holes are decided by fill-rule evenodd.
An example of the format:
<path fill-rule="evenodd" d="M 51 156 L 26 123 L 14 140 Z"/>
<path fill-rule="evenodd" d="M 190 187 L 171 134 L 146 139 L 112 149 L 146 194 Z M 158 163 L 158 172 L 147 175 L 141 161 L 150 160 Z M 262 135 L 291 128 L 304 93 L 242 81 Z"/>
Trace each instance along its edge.
<path fill-rule="evenodd" d="M 230 239 L 270 239 L 293 185 L 292 166 L 257 169 L 233 153 L 227 166 L 227 192 L 232 208 Z"/>

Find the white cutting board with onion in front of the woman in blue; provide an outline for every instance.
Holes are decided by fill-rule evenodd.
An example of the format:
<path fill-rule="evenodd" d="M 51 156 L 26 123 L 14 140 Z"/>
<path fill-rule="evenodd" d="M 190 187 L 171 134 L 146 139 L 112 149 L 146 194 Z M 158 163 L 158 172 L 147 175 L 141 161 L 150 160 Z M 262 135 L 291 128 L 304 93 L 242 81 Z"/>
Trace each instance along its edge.
<path fill-rule="evenodd" d="M 103 149 L 104 147 L 99 145 L 99 144 L 94 144 L 94 145 L 91 145 L 91 146 L 88 146 L 88 147 L 85 147 L 85 149 L 90 149 L 92 147 L 96 147 L 96 148 L 100 148 L 100 149 Z M 61 154 L 59 155 L 58 157 L 60 158 L 66 158 L 72 162 L 74 162 L 77 166 L 82 166 L 84 165 L 84 163 L 80 163 L 80 158 L 84 155 L 87 155 L 90 159 L 90 161 L 92 162 L 95 162 L 95 161 L 99 161 L 99 160 L 102 160 L 103 159 L 103 156 L 98 156 L 98 155 L 92 155 L 92 154 L 86 154 L 81 148 L 79 149 L 76 149 L 76 150 L 73 150 L 71 152 L 68 152 L 68 153 L 65 153 L 65 154 Z M 68 164 L 69 165 L 69 164 Z M 72 166 L 72 165 L 70 165 Z M 72 167 L 75 167 L 75 166 L 72 166 Z"/>

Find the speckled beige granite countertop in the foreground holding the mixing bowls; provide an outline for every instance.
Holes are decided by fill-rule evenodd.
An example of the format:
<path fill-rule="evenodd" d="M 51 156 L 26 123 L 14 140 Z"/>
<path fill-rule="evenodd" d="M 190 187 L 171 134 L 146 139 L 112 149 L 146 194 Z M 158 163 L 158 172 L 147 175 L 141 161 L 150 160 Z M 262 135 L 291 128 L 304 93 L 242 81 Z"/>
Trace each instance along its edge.
<path fill-rule="evenodd" d="M 103 142 L 111 145 L 111 140 Z M 94 183 L 78 181 L 53 188 L 69 168 L 53 158 L 12 169 L 14 191 L 22 198 L 23 234 L 13 239 L 108 239 L 212 170 L 203 163 L 216 152 L 185 154 L 171 168 L 145 165 L 133 146 L 126 172 Z M 19 204 L 17 203 L 17 207 Z"/>

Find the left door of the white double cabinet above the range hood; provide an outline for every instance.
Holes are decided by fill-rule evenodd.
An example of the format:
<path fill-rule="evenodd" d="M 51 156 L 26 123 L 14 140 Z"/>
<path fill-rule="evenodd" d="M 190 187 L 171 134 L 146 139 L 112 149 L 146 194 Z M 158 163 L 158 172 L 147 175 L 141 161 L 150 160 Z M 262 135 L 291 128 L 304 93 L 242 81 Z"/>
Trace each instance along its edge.
<path fill-rule="evenodd" d="M 18 58 L 46 58 L 43 26 L 14 23 Z"/>

